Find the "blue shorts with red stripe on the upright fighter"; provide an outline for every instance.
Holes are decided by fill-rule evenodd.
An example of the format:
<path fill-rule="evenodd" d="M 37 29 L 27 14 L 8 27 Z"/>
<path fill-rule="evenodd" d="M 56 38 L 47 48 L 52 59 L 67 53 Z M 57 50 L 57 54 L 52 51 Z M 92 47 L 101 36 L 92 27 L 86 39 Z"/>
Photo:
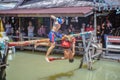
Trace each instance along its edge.
<path fill-rule="evenodd" d="M 62 38 L 62 34 L 60 34 L 59 32 L 54 32 L 54 31 L 50 31 L 48 34 L 48 37 L 50 39 L 50 42 L 56 42 L 57 38 Z"/>

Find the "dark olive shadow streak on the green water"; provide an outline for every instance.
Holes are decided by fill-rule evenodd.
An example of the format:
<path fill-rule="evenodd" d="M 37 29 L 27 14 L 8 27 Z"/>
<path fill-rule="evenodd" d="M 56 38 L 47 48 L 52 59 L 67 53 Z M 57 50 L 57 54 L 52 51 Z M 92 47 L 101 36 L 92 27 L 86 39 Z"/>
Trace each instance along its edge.
<path fill-rule="evenodd" d="M 57 80 L 58 78 L 62 78 L 62 77 L 66 77 L 66 78 L 71 78 L 72 76 L 74 76 L 74 72 L 78 70 L 78 69 L 74 69 L 65 73 L 59 73 L 59 74 L 55 74 L 55 75 L 51 75 L 48 77 L 43 77 L 43 78 L 39 78 L 39 80 Z"/>

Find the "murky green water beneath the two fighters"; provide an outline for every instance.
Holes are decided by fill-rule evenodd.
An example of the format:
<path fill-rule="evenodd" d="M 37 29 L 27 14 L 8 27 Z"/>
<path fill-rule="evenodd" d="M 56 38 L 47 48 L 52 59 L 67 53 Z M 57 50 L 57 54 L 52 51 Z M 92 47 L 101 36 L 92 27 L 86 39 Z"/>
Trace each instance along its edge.
<path fill-rule="evenodd" d="M 52 54 L 52 56 L 62 56 Z M 7 80 L 120 80 L 120 63 L 100 60 L 93 64 L 93 70 L 78 69 L 80 58 L 74 63 L 68 60 L 46 62 L 45 53 L 16 52 L 7 67 Z"/>

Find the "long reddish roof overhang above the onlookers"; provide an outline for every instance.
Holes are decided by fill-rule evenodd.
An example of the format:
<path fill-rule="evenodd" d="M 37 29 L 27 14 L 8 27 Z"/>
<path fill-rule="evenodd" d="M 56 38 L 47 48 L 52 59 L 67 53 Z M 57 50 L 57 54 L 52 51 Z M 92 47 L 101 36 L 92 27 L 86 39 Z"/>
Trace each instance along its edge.
<path fill-rule="evenodd" d="M 86 17 L 93 14 L 93 7 L 63 7 L 63 8 L 36 8 L 36 9 L 10 9 L 0 10 L 2 16 L 17 16 L 17 17 L 49 17 L 56 16 L 79 16 Z"/>

